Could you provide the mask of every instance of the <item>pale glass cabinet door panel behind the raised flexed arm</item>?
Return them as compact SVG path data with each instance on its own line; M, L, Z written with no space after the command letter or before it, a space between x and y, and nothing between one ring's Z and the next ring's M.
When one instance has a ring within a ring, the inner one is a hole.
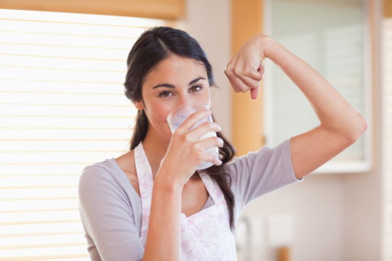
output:
M266 2L268 34L319 71L370 122L365 1ZM270 60L267 67L266 145L273 146L320 122L306 96L285 72ZM370 128L369 123L366 134L313 173L368 171Z

